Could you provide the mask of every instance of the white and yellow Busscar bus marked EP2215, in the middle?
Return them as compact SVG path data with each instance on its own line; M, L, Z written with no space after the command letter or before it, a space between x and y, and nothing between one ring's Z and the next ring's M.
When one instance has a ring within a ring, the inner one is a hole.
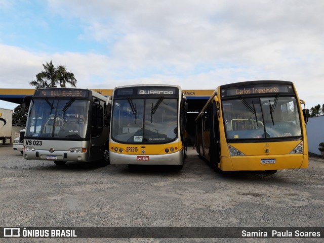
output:
M128 85L112 95L111 164L175 165L187 151L186 97L176 85Z

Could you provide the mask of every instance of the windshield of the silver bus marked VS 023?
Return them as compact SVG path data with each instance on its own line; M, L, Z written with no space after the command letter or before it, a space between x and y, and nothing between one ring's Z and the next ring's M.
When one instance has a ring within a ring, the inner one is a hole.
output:
M35 99L26 124L27 137L86 138L90 101Z

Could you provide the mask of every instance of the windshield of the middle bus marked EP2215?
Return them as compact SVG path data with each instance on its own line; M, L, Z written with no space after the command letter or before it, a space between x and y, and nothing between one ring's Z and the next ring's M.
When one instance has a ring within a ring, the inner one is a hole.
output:
M126 143L165 143L177 138L177 99L115 100L111 137Z

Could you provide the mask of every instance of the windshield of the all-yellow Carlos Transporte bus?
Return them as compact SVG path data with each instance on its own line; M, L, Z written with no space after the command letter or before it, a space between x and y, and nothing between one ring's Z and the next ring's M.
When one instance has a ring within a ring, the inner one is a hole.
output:
M296 97L268 96L222 102L227 139L301 136Z

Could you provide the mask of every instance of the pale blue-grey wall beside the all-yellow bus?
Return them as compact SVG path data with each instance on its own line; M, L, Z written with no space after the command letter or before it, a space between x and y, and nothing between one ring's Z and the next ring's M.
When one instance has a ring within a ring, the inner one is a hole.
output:
M306 125L308 151L321 155L318 143L324 142L324 116L310 117Z

